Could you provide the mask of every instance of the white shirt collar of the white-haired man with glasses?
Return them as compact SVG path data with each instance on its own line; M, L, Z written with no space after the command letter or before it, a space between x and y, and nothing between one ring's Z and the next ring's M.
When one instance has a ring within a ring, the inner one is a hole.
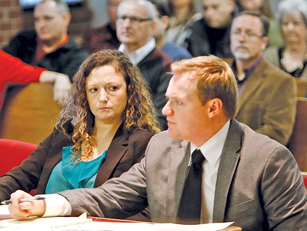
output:
M156 47L155 38L151 37L147 44L135 51L131 51L127 54L134 65L137 65L142 61L153 49ZM119 51L125 52L125 45L121 44L118 48Z

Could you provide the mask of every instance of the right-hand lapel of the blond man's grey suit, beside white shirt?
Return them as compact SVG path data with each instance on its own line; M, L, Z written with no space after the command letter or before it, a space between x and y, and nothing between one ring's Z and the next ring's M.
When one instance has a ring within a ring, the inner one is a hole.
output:
M223 222L229 187L239 160L241 148L242 127L232 119L218 167L214 206L213 222Z

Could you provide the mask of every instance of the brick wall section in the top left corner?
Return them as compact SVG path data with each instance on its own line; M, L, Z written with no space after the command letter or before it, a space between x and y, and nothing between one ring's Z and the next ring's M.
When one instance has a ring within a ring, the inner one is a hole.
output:
M0 0L0 48L22 27L19 1Z

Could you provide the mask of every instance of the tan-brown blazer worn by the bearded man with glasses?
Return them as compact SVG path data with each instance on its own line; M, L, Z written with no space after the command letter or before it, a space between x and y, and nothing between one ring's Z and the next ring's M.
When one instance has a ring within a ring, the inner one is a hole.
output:
M239 96L235 118L286 145L292 134L295 114L294 78L262 59Z

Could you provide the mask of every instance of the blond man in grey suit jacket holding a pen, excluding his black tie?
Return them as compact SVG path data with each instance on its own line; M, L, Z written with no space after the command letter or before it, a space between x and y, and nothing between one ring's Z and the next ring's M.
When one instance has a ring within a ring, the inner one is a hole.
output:
M304 230L307 196L298 166L282 144L233 117L235 77L215 56L174 62L163 113L168 130L150 140L145 157L98 188L46 195L21 202L11 195L14 218L77 216L126 218L149 206L153 222L177 222L191 154L202 164L199 222L234 221L243 230ZM56 202L56 203L55 203Z

